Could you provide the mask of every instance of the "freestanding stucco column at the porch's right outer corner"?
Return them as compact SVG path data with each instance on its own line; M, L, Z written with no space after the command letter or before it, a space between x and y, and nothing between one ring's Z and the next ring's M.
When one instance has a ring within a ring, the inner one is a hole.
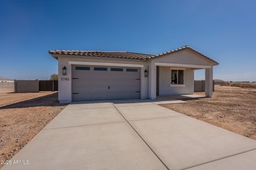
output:
M213 66L205 69L205 96L212 97L213 91Z

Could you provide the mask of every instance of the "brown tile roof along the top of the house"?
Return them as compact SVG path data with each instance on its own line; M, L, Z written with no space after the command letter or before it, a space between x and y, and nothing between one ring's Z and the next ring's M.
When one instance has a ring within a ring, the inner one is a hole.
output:
M198 52L197 50L191 48L188 45L181 46L180 48L176 48L174 50L170 50L160 54L143 54L143 53L133 53L133 52L126 52L126 51L84 51L84 50L52 50L49 51L49 54L63 54L63 55L75 55L75 56L90 56L90 57L109 57L109 58L126 58L126 59L153 59L157 57L164 56L165 54L175 53L183 49L191 49L194 52L210 59L210 61L216 63L213 59L205 56L205 54Z

